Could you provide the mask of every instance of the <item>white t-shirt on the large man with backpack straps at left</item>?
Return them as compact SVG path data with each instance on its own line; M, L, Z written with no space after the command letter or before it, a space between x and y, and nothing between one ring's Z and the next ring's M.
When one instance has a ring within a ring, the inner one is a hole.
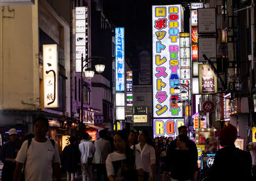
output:
M29 145L28 140L22 144L15 161L23 163L26 161L26 181L51 181L52 162L60 162L58 147L52 145L50 139L44 143L32 139Z

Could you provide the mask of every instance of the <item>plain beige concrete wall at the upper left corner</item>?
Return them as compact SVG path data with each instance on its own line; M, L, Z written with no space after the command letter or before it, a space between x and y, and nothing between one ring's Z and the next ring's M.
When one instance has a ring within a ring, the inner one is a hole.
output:
M38 109L38 6L1 6L0 109Z

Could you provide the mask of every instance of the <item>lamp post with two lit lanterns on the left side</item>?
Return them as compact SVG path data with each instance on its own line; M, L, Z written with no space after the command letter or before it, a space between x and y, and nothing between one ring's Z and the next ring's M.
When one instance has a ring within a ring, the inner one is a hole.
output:
M91 59L89 61L89 59ZM86 67L89 63L91 63L93 61L93 59L103 59L100 56L92 56L90 58L83 58L83 54L81 56L81 114L80 114L80 122L83 123L83 113L84 113L84 86L83 86L83 70L84 67ZM85 64L84 64L85 61ZM99 63L97 65L95 65L95 70L99 73L104 72L105 69L105 65L102 63ZM84 70L84 75L87 79L92 79L93 75L94 75L94 70L92 68L86 68L86 70Z

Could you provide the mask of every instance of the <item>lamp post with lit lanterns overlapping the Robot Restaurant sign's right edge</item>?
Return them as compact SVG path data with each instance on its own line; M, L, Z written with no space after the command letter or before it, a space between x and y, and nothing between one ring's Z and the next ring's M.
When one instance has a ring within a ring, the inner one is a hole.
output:
M179 94L180 93L180 97L181 98L186 98L188 96L188 118L189 118L189 120L191 120L190 101L189 101L189 95L190 95L190 89L191 88L189 87L189 84L174 84L174 85L177 86L177 87L174 88L174 93L175 94ZM182 88L184 88L186 91L181 91L180 92L180 88L178 86L182 86ZM179 101L178 102L178 106L179 107L182 106L182 103L183 102ZM185 111L185 109L184 109L184 111ZM186 114L184 114L184 115L186 115Z

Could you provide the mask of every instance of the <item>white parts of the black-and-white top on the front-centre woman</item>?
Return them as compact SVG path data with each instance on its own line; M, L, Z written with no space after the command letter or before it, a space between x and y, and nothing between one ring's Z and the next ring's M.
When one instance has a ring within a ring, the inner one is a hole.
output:
M115 169L112 164L112 162L121 161L124 159L126 159L125 153L113 152L108 155L108 157L106 159L106 169L107 169L108 177L110 175L113 175L113 176L115 176L115 180L122 180L124 178L124 177L122 177L121 169L118 170L115 175ZM135 152L135 166L136 166L136 169L143 168L142 163L141 163L140 153L137 151Z

